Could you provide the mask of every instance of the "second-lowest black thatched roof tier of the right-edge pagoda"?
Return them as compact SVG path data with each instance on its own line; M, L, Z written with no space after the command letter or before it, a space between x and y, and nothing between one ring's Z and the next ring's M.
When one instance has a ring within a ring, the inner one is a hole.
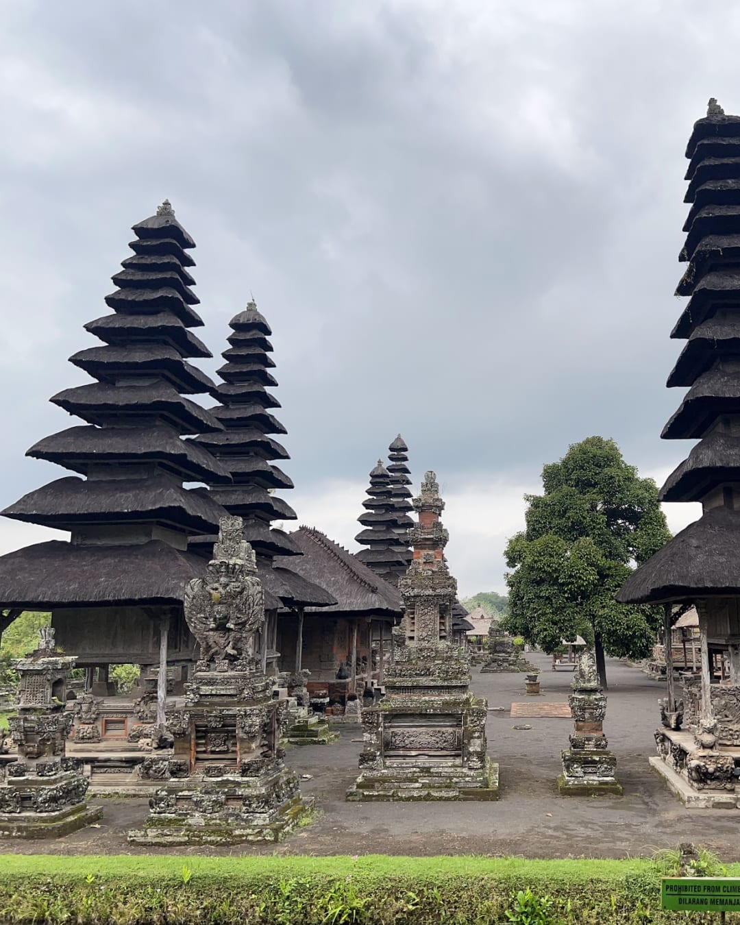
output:
M740 438L714 431L697 443L660 489L661 501L700 501L740 474Z

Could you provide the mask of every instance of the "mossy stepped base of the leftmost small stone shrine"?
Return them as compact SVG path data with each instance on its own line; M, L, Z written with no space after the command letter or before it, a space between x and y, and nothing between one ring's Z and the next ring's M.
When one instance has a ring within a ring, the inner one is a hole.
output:
M56 838L103 816L102 807L85 802L88 782L77 771L18 776L18 770L8 765L0 784L0 837Z

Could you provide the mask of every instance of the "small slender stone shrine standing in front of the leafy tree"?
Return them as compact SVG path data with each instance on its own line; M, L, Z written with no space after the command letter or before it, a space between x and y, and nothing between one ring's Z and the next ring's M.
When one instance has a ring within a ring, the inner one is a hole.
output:
M568 702L575 729L569 736L571 747L561 753L562 773L558 778L561 796L621 796L622 784L614 776L617 758L609 751L603 730L607 698L598 683L593 652L578 656L573 694Z

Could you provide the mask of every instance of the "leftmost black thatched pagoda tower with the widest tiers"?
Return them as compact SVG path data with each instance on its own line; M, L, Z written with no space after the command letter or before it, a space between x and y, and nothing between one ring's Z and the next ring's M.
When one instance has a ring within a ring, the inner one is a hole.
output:
M187 395L215 386L187 358L210 356L191 328L195 246L168 202L133 227L133 252L105 296L112 314L85 328L103 346L70 362L95 380L52 398L84 422L28 450L76 475L31 491L2 513L66 530L0 557L0 607L52 611L56 640L79 667L191 660L184 586L203 570L189 536L217 529L225 512L202 488L228 483L210 453L183 435L221 431ZM165 672L160 672L160 679ZM124 733L125 735L125 733Z

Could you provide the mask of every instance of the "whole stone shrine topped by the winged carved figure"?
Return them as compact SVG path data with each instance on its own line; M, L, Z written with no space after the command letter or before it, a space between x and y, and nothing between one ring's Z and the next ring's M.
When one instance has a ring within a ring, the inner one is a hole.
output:
M240 517L221 519L213 559L185 590L185 619L201 657L187 705L167 714L175 738L166 785L150 799L138 845L278 841L307 808L278 746L285 700L272 697L258 635L263 587Z

